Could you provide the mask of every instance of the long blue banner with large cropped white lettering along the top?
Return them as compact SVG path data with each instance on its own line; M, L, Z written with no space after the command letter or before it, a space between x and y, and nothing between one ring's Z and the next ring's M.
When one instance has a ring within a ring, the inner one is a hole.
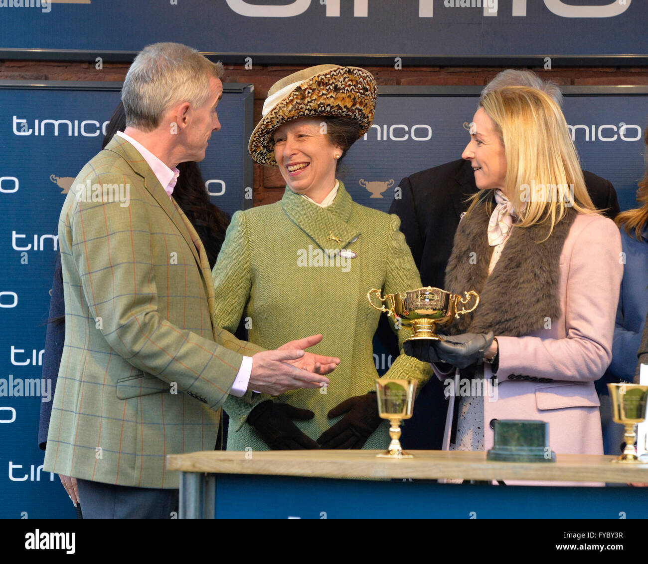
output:
M101 55L175 41L238 53L241 63L257 53L646 55L648 20L641 0L65 0L1 7L14 2L23 0L0 1L0 49Z

